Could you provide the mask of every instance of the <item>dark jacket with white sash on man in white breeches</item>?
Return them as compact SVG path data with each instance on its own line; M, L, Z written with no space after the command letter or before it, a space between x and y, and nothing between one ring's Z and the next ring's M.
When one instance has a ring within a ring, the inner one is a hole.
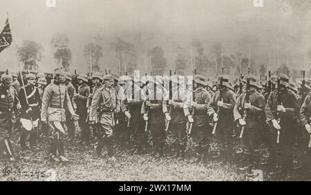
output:
M28 119L32 118L32 120L39 119L40 117L40 105L41 105L41 98L39 94L39 90L32 85L26 85L26 95L28 99L28 103L26 101L24 89L21 88L19 91L19 101L21 102L21 118ZM31 112L28 114L26 110L31 107Z

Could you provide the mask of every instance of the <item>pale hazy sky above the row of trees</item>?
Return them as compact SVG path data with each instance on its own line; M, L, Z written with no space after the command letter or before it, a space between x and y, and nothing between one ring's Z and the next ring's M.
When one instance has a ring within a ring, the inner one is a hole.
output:
M205 52L212 43L223 43L227 54L248 55L251 43L256 61L267 61L270 53L272 63L279 41L281 59L289 55L291 64L297 65L305 54L309 63L308 2L302 6L293 3L296 0L263 2L263 8L255 8L253 0L56 0L56 8L47 8L46 0L0 0L0 28L8 12L15 44L41 43L46 50L40 67L44 71L53 67L50 38L56 32L68 34L80 71L87 68L82 51L93 32L104 38L99 43L104 53L101 63L114 71L117 59L109 43L116 37L133 43L139 65L144 52L154 46L170 52L178 44L187 48L192 39L200 39ZM1 69L7 65L17 69L15 44L0 53Z

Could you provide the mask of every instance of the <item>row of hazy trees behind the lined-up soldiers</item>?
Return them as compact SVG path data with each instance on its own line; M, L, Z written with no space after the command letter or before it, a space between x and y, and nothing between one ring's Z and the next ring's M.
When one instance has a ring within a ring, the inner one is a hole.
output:
M102 47L99 45L101 40L100 35L93 35L93 41L84 45L84 57L92 65L92 72L101 71L100 59L103 57ZM50 41L54 60L56 63L62 64L66 71L73 63L69 42L67 35L60 33L54 34ZM119 73L128 72L131 74L133 70L138 68L138 57L132 43L117 38L110 43L110 46L115 51ZM191 50L182 48L180 45L176 46L172 52L174 53L173 57L171 54L166 57L162 48L154 47L144 54L144 66L145 70L161 75L165 71L168 72L167 68L176 70L177 74L187 74L192 70L191 65L194 65L197 72L213 79L217 74L221 74L221 65L223 64L224 74L230 75L231 79L236 79L240 73L245 74L247 72L250 63L250 72L261 78L261 81L265 79L267 65L258 65L254 59L243 57L241 53L227 55L222 50L222 45L215 43L211 45L209 52L205 52L202 42L198 39L191 41ZM21 47L18 48L18 55L24 65L24 70L38 70L38 62L44 58L44 48L35 41L23 41ZM89 71L91 71L90 69ZM288 66L283 63L280 71L288 74ZM299 78L299 70L293 70L290 75L293 79Z

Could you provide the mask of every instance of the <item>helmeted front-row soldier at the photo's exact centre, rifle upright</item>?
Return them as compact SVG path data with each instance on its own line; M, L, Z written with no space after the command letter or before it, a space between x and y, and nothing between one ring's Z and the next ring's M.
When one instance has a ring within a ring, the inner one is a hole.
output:
M165 125L164 125L164 107L167 103L163 102L162 93L162 79L158 77L153 80L151 76L148 79L148 85L145 86L147 99L142 104L141 114L143 114L144 121L147 121L147 131L150 132L150 139L154 148L154 154L163 155L165 145ZM163 105L164 104L164 105ZM165 114L169 121L171 118L169 114Z

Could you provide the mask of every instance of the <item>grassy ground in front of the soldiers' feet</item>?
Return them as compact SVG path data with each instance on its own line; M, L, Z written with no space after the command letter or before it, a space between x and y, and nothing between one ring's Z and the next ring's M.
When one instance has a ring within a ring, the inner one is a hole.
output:
M13 137L15 151L19 151L17 137ZM238 154L229 161L224 158L209 160L205 163L196 163L192 154L185 161L166 154L162 158L147 154L131 154L128 150L117 147L117 161L107 161L106 154L102 157L95 155L93 147L66 143L66 156L68 163L53 163L48 158L48 138L41 140L39 152L26 153L25 158L9 163L0 161L0 181L44 181L53 178L50 174L54 170L59 181L254 181L256 177L246 172L238 172ZM213 146L215 147L215 146ZM12 172L15 171L15 174ZM17 174L20 171L21 174ZM38 172L38 173L35 173ZM43 173L42 173L43 172ZM265 181L275 180L264 173ZM47 177L49 176L49 177ZM289 180L306 180L294 175Z

